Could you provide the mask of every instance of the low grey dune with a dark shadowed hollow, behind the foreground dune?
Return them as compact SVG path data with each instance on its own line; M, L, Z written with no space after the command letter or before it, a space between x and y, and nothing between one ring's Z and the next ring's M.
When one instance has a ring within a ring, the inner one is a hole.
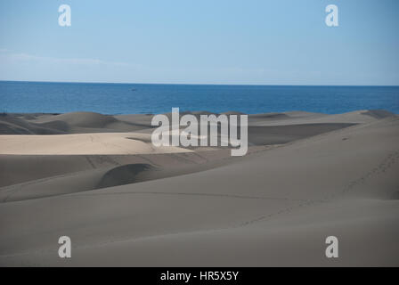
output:
M182 155L185 153L151 155L150 158L146 158L144 155L140 158L131 156L127 160L132 160L134 163L130 164L126 164L126 159L112 158L112 156L102 158L87 156L86 159L91 167L87 166L87 163L83 163L86 166L85 170L68 172L65 169L66 172L61 175L52 175L49 171L42 170L40 175L43 178L36 177L35 179L23 177L23 175L14 178L12 184L7 183L0 188L0 203L92 191L208 170L226 164L224 159L230 154L226 151L218 152L218 155L209 157L209 159L202 156L183 157ZM99 159L105 159L105 163L101 167L95 167L95 161ZM125 164L119 165L118 161L120 160L125 160ZM139 163L142 161L147 163ZM110 163L116 163L118 166L110 167ZM173 166L171 167L170 164Z

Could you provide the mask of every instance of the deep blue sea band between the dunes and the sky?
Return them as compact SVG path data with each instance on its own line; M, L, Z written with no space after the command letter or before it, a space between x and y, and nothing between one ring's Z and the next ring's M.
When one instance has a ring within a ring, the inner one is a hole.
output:
M399 113L399 86L157 85L0 81L0 112L102 114L183 110Z

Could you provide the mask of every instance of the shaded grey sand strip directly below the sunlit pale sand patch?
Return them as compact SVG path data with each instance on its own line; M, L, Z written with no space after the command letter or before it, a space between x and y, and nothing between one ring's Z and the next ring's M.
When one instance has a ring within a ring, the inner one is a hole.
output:
M252 149L257 151L259 148ZM110 169L128 164L149 164L157 169L157 176L161 172L159 169L162 169L162 173L170 171L178 175L191 167L214 167L217 161L225 159L230 160L230 150L140 155L0 155L0 187L31 181L37 183L43 178L49 180L60 175L81 175L86 170ZM24 184L23 187L31 184ZM20 189L22 186L14 187Z

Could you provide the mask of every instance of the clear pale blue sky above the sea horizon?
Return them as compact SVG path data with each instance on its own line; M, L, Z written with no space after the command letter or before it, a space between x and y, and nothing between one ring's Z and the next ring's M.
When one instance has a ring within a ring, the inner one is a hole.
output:
M397 0L0 0L0 80L399 85L398 30Z

